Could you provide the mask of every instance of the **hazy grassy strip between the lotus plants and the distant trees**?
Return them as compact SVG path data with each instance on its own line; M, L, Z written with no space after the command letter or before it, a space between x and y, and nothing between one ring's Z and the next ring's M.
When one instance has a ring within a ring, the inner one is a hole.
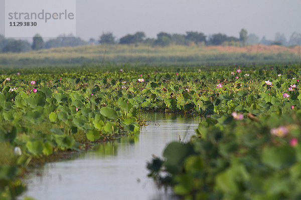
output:
M20 53L0 53L0 66L48 67L53 65L116 65L131 63L148 66L251 65L300 62L300 46L250 45L206 46L146 44L98 44L59 47Z

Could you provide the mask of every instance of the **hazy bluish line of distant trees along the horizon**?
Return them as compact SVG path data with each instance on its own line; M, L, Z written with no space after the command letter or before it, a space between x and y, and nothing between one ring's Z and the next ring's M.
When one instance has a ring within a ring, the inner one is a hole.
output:
M43 37L36 34L33 37L33 42L26 40L7 39L0 35L0 52L24 52L30 50L39 50L43 48L54 48L61 46L78 46L87 44L146 44L168 46L171 44L177 45L233 45L244 46L249 44L264 44L264 45L301 45L301 34L292 33L287 40L284 34L277 32L274 40L268 40L263 36L261 39L254 34L248 34L247 30L242 28L239 31L239 37L228 36L223 33L214 33L205 35L203 32L187 31L186 34L159 32L156 38L146 37L142 31L137 31L134 34L126 34L117 39L112 32L102 33L99 39L90 38L88 41L70 35L60 35L56 38L44 41Z

